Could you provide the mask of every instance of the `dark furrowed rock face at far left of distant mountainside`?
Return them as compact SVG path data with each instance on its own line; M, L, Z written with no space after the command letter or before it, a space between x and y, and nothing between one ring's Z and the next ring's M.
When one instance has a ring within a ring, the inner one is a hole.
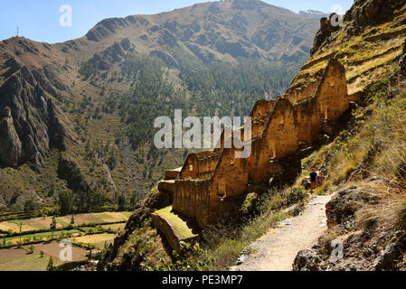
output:
M29 68L11 59L13 74L0 87L0 166L42 165L51 147L73 141L70 129L52 97L66 86L52 66ZM7 72L8 72L7 71Z

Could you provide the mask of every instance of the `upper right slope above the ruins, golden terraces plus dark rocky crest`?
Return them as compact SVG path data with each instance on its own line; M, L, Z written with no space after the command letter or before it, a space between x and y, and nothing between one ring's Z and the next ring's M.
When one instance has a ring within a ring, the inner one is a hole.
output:
M332 58L345 66L349 94L384 78L402 55L404 9L403 1L355 1L345 14L344 27L325 23L316 34L311 57L289 90L307 88Z

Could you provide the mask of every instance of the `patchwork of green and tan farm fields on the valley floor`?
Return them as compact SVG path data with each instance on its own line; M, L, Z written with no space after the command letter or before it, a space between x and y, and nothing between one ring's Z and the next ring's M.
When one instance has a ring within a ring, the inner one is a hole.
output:
M72 261L84 261L87 249L102 249L111 244L116 238L114 232L125 228L130 215L131 212L109 211L78 214L74 215L73 228L68 228L71 215L57 217L57 229L53 234L50 230L52 217L3 221L0 223L3 231L0 234L0 271L45 271L50 257L54 266L62 265L60 240L63 238L72 242Z

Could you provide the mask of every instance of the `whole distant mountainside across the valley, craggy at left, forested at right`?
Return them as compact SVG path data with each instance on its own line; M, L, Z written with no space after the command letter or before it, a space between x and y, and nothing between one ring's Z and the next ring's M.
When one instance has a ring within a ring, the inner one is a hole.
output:
M133 208L187 154L151 145L155 117L248 115L288 87L317 27L233 0L0 42L0 210Z

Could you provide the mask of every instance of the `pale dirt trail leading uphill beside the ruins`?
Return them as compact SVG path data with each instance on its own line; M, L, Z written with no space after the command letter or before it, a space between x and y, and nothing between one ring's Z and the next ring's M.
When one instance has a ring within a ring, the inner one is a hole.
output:
M277 228L250 244L231 271L291 271L297 252L312 247L326 230L326 203L332 195L316 196L297 217L286 219Z

